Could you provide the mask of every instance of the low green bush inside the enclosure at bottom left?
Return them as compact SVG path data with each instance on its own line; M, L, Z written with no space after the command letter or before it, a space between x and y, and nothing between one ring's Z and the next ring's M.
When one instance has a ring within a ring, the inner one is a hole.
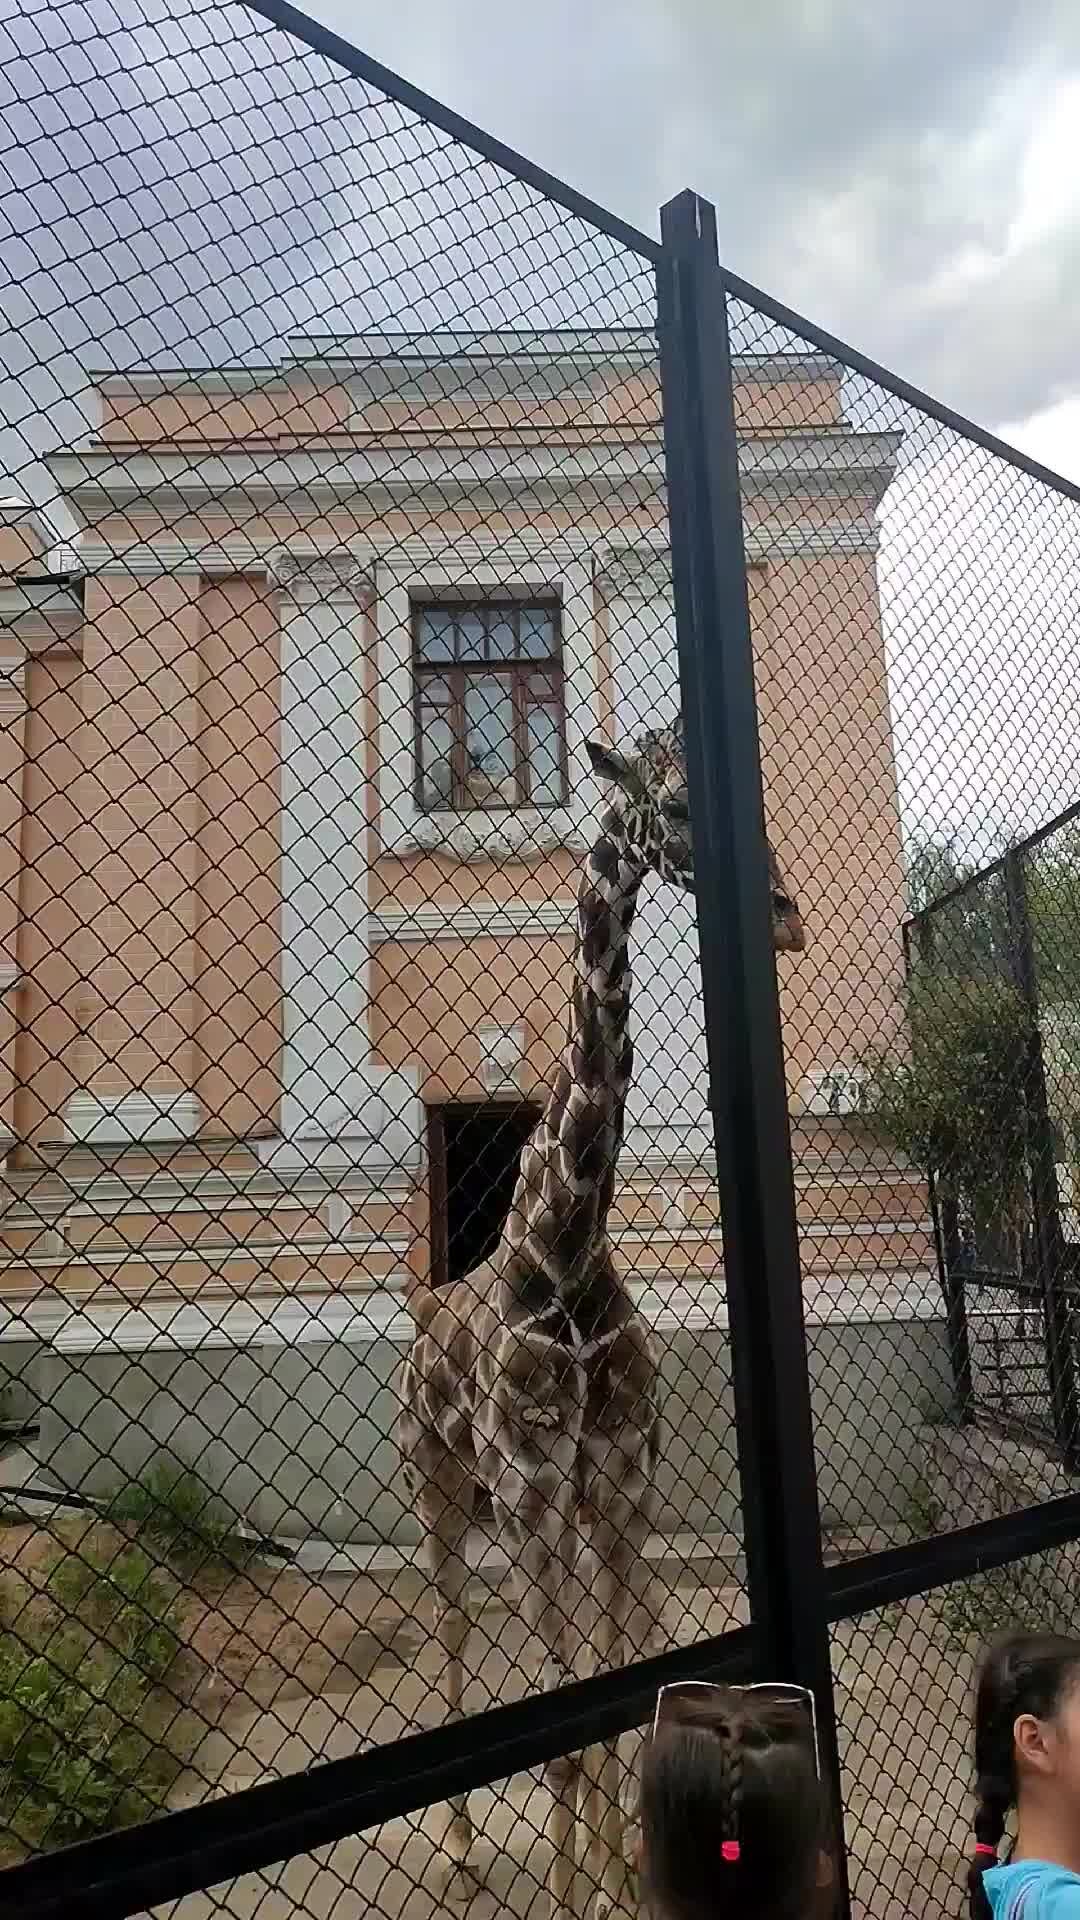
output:
M183 1764L161 1682L181 1596L136 1546L58 1548L40 1594L0 1624L0 1826L15 1851L158 1812Z

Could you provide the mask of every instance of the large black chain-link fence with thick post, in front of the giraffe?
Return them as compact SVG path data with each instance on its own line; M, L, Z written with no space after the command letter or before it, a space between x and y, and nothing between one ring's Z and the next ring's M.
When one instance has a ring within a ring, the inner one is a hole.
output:
M1080 1536L1074 490L277 0L0 86L12 1908L632 1910L755 1674L953 1912Z

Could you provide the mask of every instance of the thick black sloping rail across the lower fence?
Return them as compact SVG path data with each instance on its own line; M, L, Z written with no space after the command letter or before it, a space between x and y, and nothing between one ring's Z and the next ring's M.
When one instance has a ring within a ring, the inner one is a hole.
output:
M884 1548L826 1569L828 1620L836 1626L1070 1540L1080 1540L1080 1494ZM657 1688L671 1680L742 1680L755 1668L753 1628L732 1628L555 1693L490 1707L10 1866L0 1874L0 1910L19 1920L127 1920L642 1726Z

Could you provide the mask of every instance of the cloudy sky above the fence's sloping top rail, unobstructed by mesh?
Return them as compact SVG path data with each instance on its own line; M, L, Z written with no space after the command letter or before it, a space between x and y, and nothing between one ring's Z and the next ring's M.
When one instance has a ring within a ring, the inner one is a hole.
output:
M1080 478L1074 0L315 0L329 27L650 232Z

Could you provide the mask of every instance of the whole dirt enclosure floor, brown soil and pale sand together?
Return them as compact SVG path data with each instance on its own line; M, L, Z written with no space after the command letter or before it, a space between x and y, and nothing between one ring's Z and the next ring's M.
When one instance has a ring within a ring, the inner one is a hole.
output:
M63 1528L67 1544L115 1538ZM4 1563L33 1590L56 1534L6 1526ZM479 1596L480 1597L480 1596ZM536 1684L538 1649L482 1588L465 1709ZM423 1578L309 1576L252 1563L206 1572L183 1597L184 1651L169 1686L192 1709L194 1738L169 1793L190 1805L398 1740L440 1718L440 1668ZM746 1617L744 1596L698 1574L675 1582L659 1632L692 1644ZM967 1853L970 1653L944 1634L932 1601L851 1622L834 1636L851 1891L867 1920L959 1914ZM632 1764L634 1741L626 1743ZM469 1920L546 1920L546 1791L517 1776L473 1797L477 1874ZM446 1809L346 1839L319 1855L192 1895L154 1920L434 1920L463 1912L438 1891ZM586 1887L578 1889L584 1914Z

